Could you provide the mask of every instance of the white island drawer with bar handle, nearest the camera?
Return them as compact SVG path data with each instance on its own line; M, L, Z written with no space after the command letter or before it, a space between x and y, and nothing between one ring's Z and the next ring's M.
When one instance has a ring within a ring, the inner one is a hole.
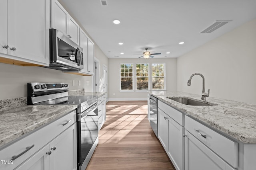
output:
M234 168L238 166L238 143L185 115L185 129Z

